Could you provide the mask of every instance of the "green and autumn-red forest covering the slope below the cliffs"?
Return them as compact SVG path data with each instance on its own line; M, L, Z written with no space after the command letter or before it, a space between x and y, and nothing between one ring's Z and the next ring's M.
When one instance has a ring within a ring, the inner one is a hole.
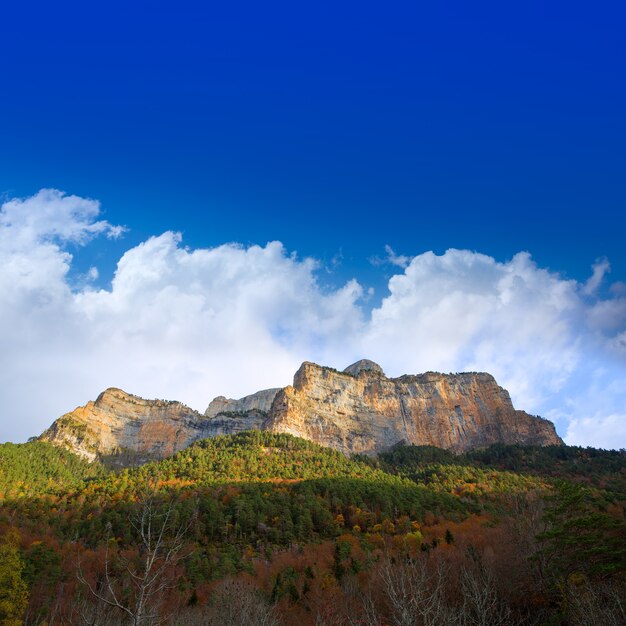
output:
M624 451L4 444L0 624L623 625L625 505Z

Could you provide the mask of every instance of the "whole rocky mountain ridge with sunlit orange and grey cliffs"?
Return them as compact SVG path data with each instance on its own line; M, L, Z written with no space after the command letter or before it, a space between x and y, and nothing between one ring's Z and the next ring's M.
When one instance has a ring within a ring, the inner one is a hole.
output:
M398 443L462 452L492 443L561 444L548 420L517 411L485 373L387 378L362 360L343 372L305 362L293 385L239 400L218 396L204 415L180 402L144 400L107 389L63 415L41 439L90 460L142 463L206 437L261 429L291 433L348 453Z

